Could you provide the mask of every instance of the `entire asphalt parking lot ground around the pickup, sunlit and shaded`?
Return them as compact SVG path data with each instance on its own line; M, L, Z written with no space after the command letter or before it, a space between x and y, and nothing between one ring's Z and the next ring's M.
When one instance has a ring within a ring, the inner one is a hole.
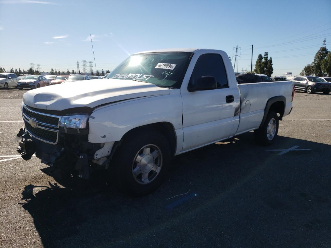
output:
M179 155L133 198L15 157L24 92L0 90L1 247L330 247L331 94L296 92L272 146L249 132Z

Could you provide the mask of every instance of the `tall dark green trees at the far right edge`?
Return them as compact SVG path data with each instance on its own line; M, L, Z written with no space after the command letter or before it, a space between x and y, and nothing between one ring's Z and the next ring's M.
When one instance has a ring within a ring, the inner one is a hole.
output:
M314 61L302 69L300 76L331 76L331 51L328 51L325 45L326 39L323 41L323 46L315 54Z

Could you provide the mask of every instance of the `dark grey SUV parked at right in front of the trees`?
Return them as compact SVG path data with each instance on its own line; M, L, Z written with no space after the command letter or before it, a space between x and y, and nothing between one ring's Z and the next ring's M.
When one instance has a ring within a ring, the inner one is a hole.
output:
M329 94L331 91L331 83L324 82L323 79L313 76L295 77L291 80L295 90L302 90L308 94L315 92L323 92Z

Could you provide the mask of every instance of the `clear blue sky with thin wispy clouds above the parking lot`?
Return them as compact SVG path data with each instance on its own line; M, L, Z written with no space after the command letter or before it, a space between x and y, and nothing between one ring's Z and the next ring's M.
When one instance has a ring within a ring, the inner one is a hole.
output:
M76 71L78 60L82 71L82 60L94 61L90 34L99 71L139 51L212 48L232 57L236 45L238 70L250 70L254 44L253 68L258 54L268 52L273 75L296 75L324 38L331 50L329 0L0 0L0 9L0 66L7 70L32 62L42 71Z

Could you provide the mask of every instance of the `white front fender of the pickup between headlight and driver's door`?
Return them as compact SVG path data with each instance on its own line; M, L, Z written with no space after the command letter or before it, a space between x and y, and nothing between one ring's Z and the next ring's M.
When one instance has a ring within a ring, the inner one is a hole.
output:
M88 141L106 143L119 141L133 128L169 122L174 129L182 128L182 99L179 89L169 95L144 97L112 103L95 109L89 119Z

